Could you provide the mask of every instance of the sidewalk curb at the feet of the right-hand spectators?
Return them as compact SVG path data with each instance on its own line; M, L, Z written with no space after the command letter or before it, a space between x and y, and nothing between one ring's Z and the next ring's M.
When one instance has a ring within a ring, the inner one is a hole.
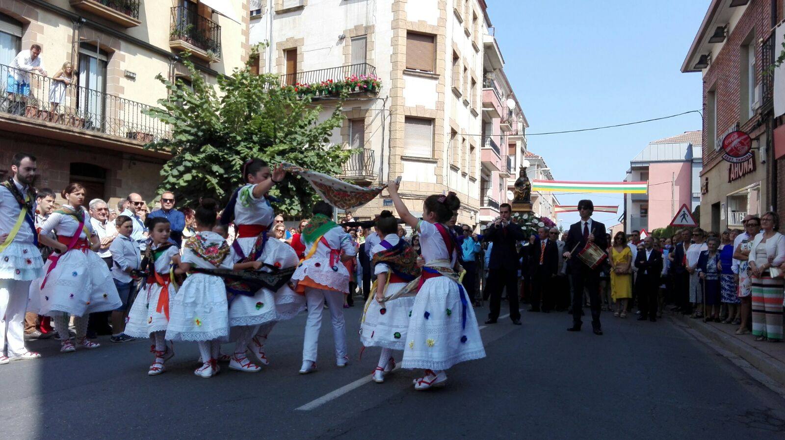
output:
M743 358L750 365L760 370L766 376L776 380L785 386L785 362L769 355L758 348L739 340L738 337L728 335L720 330L714 329L711 325L706 325L698 319L688 318L683 315L671 315L674 322L681 322L689 328L696 330L702 336L720 345L723 349L734 355ZM750 335L745 335L750 336Z

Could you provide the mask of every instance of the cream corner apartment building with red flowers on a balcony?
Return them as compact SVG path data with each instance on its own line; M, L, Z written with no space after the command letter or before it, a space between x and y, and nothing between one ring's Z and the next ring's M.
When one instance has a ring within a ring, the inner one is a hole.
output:
M354 151L342 177L372 185L402 176L401 195L415 214L427 195L455 191L465 224L479 223L482 196L498 201L507 187L498 180L505 144L486 146L483 136L491 134L485 53L498 53L489 26L484 0L250 3L250 42L266 43L258 71L279 74L282 85L379 78L381 89L350 93L344 126L330 138ZM327 95L314 104L327 115L335 102ZM485 180L495 182L492 191L481 186ZM354 216L371 218L381 209L392 209L392 201L379 198Z

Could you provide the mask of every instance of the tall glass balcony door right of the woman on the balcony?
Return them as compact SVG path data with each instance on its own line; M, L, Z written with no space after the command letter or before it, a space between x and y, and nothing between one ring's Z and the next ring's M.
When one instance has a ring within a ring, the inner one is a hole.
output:
M79 128L104 131L106 100L106 64L108 53L94 45L79 48Z

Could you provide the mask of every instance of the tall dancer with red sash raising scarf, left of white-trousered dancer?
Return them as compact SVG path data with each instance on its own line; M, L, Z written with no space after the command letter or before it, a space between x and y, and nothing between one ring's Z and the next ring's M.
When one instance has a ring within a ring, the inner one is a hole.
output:
M269 227L275 213L268 201L268 191L279 184L286 172L279 166L270 169L260 159L243 165L246 184L235 191L221 217L222 224L234 220L237 238L232 243L231 261L234 269L265 271L275 274L295 267L299 259L286 242L272 238ZM227 215L228 214L228 215ZM289 272L290 273L290 272ZM283 275L282 275L283 276ZM229 325L236 339L235 352L229 368L256 372L260 368L246 358L246 348L263 365L268 365L265 342L278 321L294 318L305 309L305 298L297 295L284 282L276 291L262 287L256 292L228 287Z

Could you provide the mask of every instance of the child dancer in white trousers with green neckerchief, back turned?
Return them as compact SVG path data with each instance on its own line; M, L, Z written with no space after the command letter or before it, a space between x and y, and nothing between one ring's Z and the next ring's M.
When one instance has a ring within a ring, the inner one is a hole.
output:
M349 271L341 262L354 258L356 250L349 234L330 220L332 206L316 202L312 210L314 216L301 234L305 249L309 250L292 275L295 291L304 294L308 304L300 374L316 371L316 349L325 301L332 318L336 365L343 367L349 363L343 314L343 294L349 292ZM341 250L344 253L341 254Z

